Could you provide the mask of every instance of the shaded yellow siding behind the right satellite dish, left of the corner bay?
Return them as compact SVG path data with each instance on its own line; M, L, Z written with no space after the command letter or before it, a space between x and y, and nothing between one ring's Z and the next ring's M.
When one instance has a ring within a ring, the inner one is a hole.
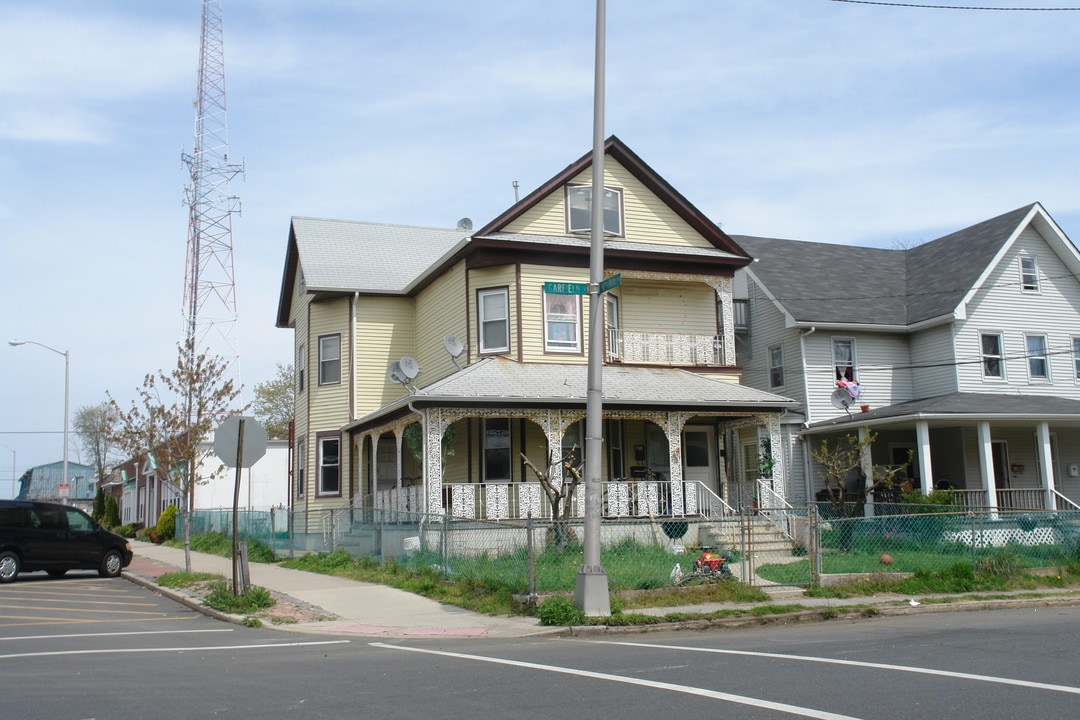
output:
M443 345L447 335L455 335L464 343L469 339L465 326L465 267L459 262L416 299L416 359L423 373L417 379L420 386L454 372L454 361ZM459 359L463 364L464 357Z

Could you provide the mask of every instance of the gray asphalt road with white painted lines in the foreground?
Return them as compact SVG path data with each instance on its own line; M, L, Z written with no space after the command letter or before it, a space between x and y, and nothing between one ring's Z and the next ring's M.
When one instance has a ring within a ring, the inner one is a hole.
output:
M96 578L0 586L0 717L1074 718L1080 609L529 640L308 636Z

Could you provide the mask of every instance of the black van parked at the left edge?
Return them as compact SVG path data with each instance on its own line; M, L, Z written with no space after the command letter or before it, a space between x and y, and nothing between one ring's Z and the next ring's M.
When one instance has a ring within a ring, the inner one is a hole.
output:
M117 578L132 561L132 544L78 507L26 500L0 500L0 583L21 572L97 570Z

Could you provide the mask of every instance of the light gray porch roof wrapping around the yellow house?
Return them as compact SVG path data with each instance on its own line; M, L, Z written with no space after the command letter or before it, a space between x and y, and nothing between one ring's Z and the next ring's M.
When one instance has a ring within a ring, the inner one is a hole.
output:
M585 407L584 364L522 364L486 357L345 426L363 430L414 407ZM679 368L604 366L603 403L618 409L780 411L797 405L780 395Z

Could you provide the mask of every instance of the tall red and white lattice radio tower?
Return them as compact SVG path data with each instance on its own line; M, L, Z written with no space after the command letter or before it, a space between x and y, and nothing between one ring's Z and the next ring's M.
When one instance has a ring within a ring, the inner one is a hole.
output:
M243 174L244 165L229 164L220 0L203 0L194 146L190 154L181 153L181 159L191 174L185 188L189 210L185 339L195 354L207 352L228 362L239 388L232 215L240 213L240 199L231 193L230 182Z

